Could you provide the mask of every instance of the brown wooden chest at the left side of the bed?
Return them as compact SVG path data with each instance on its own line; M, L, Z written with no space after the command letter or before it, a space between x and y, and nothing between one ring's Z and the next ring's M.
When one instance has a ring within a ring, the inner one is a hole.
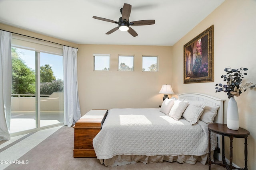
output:
M92 139L99 133L107 109L92 109L74 125L74 158L96 157Z

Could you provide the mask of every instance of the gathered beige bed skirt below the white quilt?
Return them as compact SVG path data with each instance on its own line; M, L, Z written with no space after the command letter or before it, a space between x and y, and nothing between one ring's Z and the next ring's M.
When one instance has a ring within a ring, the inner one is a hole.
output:
M214 151L211 152L211 158L213 158ZM143 162L144 164L155 163L155 162L179 162L179 163L188 163L195 164L196 161L199 161L201 164L205 165L208 161L208 154L202 156L193 156L193 155L179 155L179 156L143 156L143 155L117 155L110 159L100 159L100 163L105 166L121 166L126 164L135 164L136 162ZM213 160L212 160L213 161Z

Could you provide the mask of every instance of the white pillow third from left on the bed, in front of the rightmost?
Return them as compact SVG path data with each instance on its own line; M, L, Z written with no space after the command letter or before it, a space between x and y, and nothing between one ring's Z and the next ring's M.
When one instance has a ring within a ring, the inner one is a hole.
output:
M189 100L188 107L182 114L182 117L189 121L191 125L195 124L202 115L205 105L206 102Z

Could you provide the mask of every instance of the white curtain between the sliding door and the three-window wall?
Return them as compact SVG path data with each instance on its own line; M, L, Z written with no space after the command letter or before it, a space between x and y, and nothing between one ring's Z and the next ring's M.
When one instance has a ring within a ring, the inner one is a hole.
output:
M77 85L77 51L63 46L64 125L71 127L81 117Z

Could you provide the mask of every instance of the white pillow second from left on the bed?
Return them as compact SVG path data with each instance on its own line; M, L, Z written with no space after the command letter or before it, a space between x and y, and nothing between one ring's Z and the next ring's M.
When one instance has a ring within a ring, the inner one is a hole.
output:
M188 102L182 102L181 100L175 100L174 105L172 106L169 116L175 120L179 120L182 113L188 106Z

